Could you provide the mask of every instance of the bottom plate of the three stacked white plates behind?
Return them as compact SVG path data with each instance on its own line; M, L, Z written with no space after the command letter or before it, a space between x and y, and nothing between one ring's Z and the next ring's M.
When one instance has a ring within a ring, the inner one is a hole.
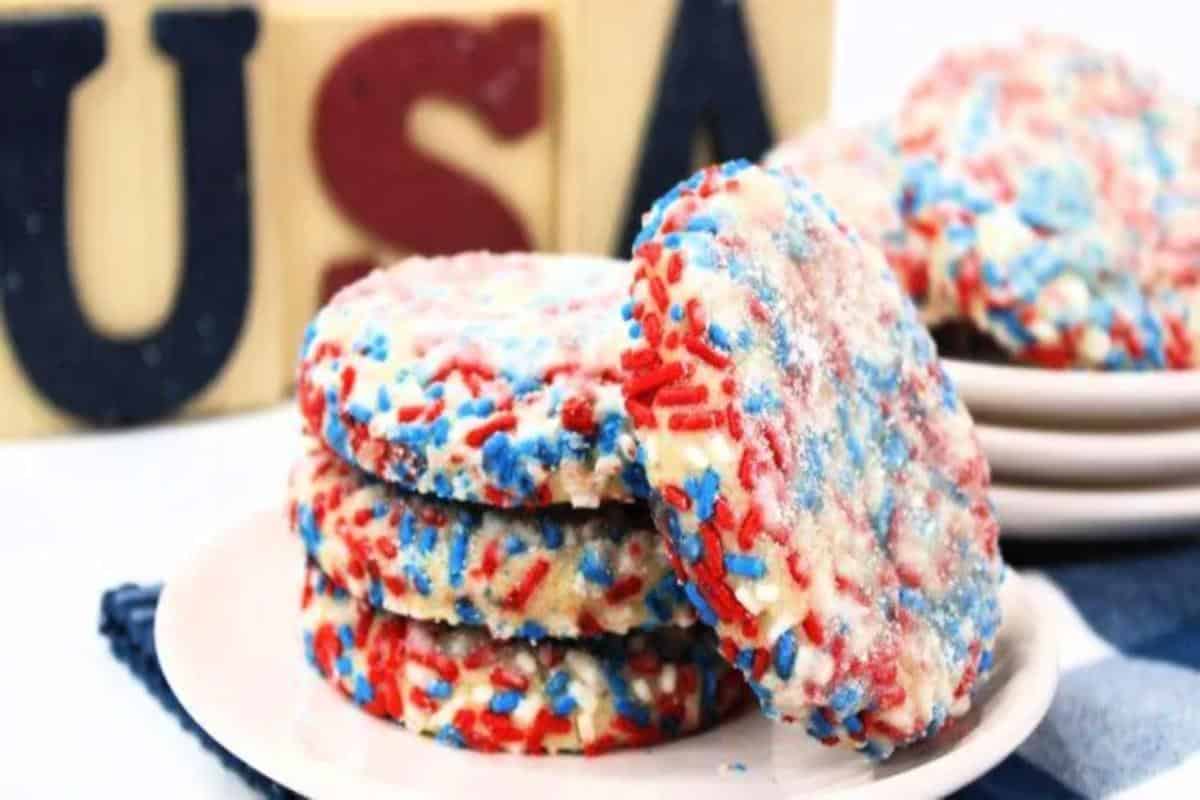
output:
M1200 533L1200 486L1058 489L992 485L1003 536L1141 539Z

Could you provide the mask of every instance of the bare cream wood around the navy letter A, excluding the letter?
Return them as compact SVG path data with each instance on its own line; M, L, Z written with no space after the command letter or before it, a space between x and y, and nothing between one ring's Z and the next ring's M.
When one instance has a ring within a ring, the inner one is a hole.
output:
M652 113L678 0L562 0L558 247L611 253ZM776 136L826 114L833 0L743 0ZM700 167L710 158L696 148ZM708 154L708 155L706 155Z

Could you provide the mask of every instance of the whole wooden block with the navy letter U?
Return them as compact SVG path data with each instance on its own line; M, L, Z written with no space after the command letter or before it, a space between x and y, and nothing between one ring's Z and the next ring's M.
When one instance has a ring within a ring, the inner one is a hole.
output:
M0 5L0 438L282 398L260 34L248 5Z

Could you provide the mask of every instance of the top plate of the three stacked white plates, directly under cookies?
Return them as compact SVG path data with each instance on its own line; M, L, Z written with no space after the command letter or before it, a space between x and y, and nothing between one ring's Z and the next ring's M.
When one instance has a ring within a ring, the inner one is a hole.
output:
M1200 425L1200 369L1080 372L944 359L967 408L980 420L1060 427L1140 429Z

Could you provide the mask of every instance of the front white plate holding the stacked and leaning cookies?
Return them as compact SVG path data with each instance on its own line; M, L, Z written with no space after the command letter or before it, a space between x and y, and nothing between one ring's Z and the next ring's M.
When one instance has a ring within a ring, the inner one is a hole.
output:
M942 795L984 774L1033 730L1057 681L1054 633L1010 575L992 680L953 735L882 765L830 751L750 711L716 730L602 758L456 751L367 716L308 668L299 637L301 552L275 515L216 540L168 582L158 657L172 688L220 742L317 798ZM744 772L722 770L742 762Z

